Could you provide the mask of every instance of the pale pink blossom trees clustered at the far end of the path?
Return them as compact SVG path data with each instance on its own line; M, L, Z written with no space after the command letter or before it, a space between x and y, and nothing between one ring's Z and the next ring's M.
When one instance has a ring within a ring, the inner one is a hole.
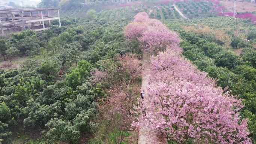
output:
M146 12L135 15L134 21L125 27L124 34L129 40L137 39L143 51L161 51L180 43L177 33L170 31L160 21L149 19Z

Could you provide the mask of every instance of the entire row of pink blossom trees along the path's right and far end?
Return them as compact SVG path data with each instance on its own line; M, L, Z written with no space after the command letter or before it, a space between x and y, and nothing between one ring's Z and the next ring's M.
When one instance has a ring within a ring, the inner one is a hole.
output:
M247 119L240 119L238 113L243 108L241 99L217 87L207 73L182 56L176 33L143 12L134 16L124 34L155 54L152 84L142 104L135 106L135 113L146 109L146 114L134 126L146 125L176 143L251 144ZM149 137L156 142L156 135Z

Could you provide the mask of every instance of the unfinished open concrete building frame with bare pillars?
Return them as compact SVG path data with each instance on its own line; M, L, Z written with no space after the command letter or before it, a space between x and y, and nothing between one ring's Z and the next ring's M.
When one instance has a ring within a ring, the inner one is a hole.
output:
M34 31L46 30L48 25L51 25L51 20L58 19L59 26L60 12L59 8L14 8L14 9L0 9L0 29L1 33L5 31L22 28L31 28ZM50 16L52 11L58 11L58 17Z

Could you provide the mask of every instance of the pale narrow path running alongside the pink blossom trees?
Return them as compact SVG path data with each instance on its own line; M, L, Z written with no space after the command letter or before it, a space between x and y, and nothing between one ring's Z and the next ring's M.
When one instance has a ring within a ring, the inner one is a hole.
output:
M144 97L146 102L147 98L147 86L149 86L149 80L151 79L150 75L150 54L144 52L143 53L143 75L142 75L142 83L141 83L141 90L144 90ZM147 113L147 111L146 111ZM152 138L149 138L149 135L152 135L153 131L149 129L147 126L141 126L138 132L138 144L153 144ZM167 144L167 142L158 142L158 144Z

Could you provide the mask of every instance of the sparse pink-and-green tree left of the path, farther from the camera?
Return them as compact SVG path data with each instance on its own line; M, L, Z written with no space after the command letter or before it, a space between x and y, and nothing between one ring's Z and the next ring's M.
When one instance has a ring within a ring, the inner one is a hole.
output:
M131 53L105 60L102 65L92 75L94 82L101 83L106 89L112 89L114 85L135 83L141 76L141 61Z

